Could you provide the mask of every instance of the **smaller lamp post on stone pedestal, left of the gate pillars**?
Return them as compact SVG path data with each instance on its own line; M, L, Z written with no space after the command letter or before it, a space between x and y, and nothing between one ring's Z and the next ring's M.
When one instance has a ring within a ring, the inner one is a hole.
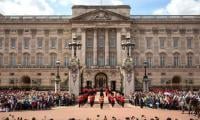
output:
M60 69L60 61L56 61L56 67L57 67L57 74L55 78L55 93L60 91L60 74L59 74L59 69Z

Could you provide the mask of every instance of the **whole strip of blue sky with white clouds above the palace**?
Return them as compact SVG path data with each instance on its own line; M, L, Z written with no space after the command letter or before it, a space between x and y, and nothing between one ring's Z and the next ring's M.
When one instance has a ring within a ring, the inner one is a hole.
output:
M0 0L0 13L71 15L73 5L130 5L132 15L200 15L200 0Z

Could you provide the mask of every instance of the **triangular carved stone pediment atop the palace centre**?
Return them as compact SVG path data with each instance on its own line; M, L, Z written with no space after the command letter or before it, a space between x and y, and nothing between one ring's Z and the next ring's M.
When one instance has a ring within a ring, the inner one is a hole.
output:
M71 18L71 21L127 21L129 17L108 10L94 10Z

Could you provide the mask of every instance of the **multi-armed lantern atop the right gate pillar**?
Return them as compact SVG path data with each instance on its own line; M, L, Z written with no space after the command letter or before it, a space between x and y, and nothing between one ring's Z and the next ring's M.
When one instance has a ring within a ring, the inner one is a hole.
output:
M130 57L130 49L133 49L135 47L135 44L131 43L130 37L126 37L125 43L122 42L121 46L123 50L127 50L127 57Z

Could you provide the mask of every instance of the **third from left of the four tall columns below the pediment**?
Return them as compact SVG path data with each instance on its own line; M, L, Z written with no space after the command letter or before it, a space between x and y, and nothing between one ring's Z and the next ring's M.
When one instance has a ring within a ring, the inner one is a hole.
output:
M108 40L108 29L105 31L105 65L109 65L109 40Z

